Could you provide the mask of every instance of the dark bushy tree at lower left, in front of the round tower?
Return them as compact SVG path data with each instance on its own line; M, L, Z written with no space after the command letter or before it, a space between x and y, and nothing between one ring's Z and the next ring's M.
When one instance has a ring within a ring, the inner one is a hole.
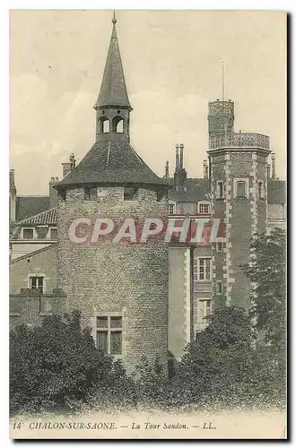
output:
M67 409L120 387L125 371L96 349L80 314L53 315L40 326L17 326L10 334L11 410Z

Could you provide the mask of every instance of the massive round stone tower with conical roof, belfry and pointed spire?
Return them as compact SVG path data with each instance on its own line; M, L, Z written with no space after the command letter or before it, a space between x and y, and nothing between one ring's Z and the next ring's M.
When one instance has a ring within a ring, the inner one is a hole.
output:
M115 18L112 22L94 106L96 142L57 185L58 288L66 293L68 311L82 311L97 347L122 358L132 371L141 357L151 361L159 357L167 366L169 248L161 237L157 244L149 239L141 242L138 237L116 241L115 229L126 220L132 227L136 222L136 232L146 218L165 220L168 183L152 172L130 144L132 108ZM114 232L107 237L97 235L93 242L98 217L109 220L110 226L113 223ZM84 235L78 243L69 237L69 228L77 219L82 227L76 228L75 235Z

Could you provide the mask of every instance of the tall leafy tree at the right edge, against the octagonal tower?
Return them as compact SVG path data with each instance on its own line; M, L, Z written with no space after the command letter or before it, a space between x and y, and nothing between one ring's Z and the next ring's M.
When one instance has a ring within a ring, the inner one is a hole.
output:
M251 262L242 268L251 281L250 315L266 342L282 350L286 340L286 233L275 228L255 237Z

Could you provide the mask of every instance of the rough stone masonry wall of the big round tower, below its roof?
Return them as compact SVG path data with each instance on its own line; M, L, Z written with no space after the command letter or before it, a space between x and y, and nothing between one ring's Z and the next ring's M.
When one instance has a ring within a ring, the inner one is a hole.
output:
M99 239L92 245L70 241L68 228L77 217L113 220L167 217L167 198L139 188L134 201L124 201L122 187L100 187L97 201L84 201L83 189L68 190L58 202L58 287L65 290L67 310L78 308L95 335L95 315L122 313L123 353L128 369L146 356L159 356L167 366L169 248L157 244L115 245Z

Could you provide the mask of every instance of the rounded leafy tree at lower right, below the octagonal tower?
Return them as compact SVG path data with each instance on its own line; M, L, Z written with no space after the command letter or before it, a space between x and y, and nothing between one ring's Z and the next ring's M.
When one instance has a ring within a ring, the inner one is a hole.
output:
M199 407L278 404L283 381L269 348L254 347L251 318L242 307L216 309L188 344L175 383L176 402Z

